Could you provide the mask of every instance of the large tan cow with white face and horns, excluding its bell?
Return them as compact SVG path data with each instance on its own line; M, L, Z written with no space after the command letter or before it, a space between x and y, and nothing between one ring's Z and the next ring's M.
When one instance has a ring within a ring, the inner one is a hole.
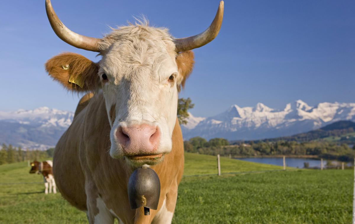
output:
M56 35L80 49L99 52L92 62L62 53L45 63L55 81L85 94L73 122L54 150L54 177L62 196L86 212L89 223L171 223L184 170L184 146L177 119L178 93L192 72L192 49L218 34L224 3L202 33L173 38L146 19L112 29L103 38L68 29L45 1ZM127 182L150 167L160 180L157 210L131 210Z

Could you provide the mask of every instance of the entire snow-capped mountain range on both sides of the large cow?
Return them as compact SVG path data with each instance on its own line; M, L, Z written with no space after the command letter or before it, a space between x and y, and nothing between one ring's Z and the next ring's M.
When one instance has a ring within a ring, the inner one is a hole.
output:
M29 150L54 147L73 117L73 112L48 107L0 111L0 143ZM181 125L181 129L185 140L195 136L256 140L303 133L343 120L355 121L355 103L324 102L312 107L297 100L288 103L283 110L257 103L255 107L233 105L206 118L190 113L187 124Z

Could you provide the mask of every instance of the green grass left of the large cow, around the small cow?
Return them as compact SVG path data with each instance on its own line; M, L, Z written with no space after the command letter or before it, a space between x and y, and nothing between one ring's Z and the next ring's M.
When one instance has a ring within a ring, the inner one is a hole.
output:
M86 214L70 206L60 193L45 195L42 175L29 170L27 162L0 166L0 223L87 222ZM11 184L23 182L30 183Z

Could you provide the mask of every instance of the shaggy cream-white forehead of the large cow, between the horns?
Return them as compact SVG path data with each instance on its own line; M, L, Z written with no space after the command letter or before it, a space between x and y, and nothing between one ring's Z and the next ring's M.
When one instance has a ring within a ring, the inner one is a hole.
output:
M153 35L151 35L153 33ZM103 38L101 70L112 75L126 75L137 69L155 77L176 72L176 52L167 30L129 26L114 30ZM165 74L166 73L166 74Z

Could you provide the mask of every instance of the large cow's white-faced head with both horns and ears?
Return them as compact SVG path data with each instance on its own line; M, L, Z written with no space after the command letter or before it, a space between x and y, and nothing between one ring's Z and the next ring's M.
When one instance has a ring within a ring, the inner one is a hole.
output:
M46 63L48 73L73 91L102 91L111 126L110 155L133 166L157 164L171 151L178 91L192 71L194 48L212 41L223 18L223 1L203 33L175 39L167 29L147 22L113 29L102 39L74 33L46 0L50 24L59 38L75 47L100 52L94 63L64 53Z

